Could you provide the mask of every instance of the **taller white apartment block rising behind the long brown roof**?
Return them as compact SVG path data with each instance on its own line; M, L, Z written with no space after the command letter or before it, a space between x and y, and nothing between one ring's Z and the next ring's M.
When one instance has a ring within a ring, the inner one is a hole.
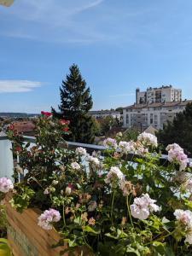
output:
M146 91L136 90L136 103L160 103L160 102L180 102L182 100L182 90L174 89L172 85L161 86L159 88L149 87Z

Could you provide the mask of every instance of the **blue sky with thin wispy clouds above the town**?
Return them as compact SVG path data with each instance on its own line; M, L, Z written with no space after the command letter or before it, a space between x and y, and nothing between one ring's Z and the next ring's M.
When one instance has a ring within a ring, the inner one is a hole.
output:
M191 0L15 0L0 6L0 112L57 109L79 66L93 109L172 84L192 99Z

